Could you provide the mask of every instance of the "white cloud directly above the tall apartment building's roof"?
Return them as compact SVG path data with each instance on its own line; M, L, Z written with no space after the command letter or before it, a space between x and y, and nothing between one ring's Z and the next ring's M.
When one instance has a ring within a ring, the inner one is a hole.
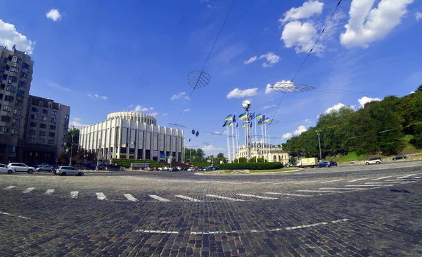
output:
M19 51L25 51L27 54L32 54L35 42L32 42L30 39L27 39L26 36L17 32L15 25L5 23L0 19L0 45L7 46L8 49L12 49L13 45L16 45L15 47Z

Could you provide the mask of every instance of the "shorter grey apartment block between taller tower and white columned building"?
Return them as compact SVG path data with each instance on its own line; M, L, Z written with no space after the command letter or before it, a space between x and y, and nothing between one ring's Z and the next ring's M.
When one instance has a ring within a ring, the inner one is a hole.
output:
M29 97L23 153L27 163L56 163L60 152L66 151L69 115L70 106Z

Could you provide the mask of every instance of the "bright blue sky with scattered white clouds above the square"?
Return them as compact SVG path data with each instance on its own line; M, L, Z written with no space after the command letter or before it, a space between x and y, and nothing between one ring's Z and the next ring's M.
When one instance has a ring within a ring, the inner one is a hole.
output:
M226 153L224 134L212 133L224 132L224 118L240 114L245 99L280 121L271 127L271 143L280 144L320 113L404 96L422 83L422 3L343 0L295 79L316 89L283 101L267 89L292 79L336 4L236 1L205 67L211 82L187 103L187 75L203 68L231 1L0 0L0 44L30 53L30 93L69 104L74 125L143 111L158 125L185 125L187 139L199 130L187 145Z

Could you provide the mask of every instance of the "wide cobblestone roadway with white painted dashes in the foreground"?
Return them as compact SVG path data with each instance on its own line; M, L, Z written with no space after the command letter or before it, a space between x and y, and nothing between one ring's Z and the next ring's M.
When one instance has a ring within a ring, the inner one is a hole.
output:
M422 162L0 175L0 256L422 256Z

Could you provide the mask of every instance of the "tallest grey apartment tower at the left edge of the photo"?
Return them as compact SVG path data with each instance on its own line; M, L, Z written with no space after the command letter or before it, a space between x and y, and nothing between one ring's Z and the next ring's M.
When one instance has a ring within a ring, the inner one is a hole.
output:
M0 162L23 161L23 135L34 61L0 46Z

